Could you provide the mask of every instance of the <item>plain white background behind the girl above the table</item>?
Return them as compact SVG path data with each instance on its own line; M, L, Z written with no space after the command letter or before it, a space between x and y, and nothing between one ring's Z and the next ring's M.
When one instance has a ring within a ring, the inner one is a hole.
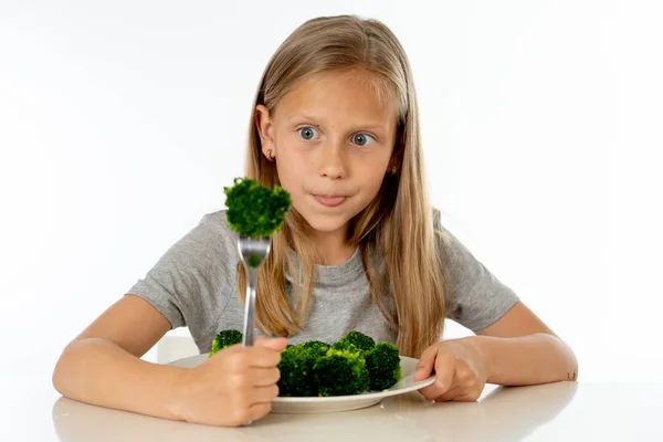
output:
M347 12L410 56L443 222L572 346L581 381L663 380L661 7L326 3L0 3L4 381L50 382L66 343L223 208L269 57Z

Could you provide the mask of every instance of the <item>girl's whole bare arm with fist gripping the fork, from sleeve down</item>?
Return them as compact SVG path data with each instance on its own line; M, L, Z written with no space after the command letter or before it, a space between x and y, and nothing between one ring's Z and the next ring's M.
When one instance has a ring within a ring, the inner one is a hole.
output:
M169 328L148 302L124 296L64 349L53 386L82 402L211 425L236 427L270 412L285 339L224 348L191 369L141 360Z

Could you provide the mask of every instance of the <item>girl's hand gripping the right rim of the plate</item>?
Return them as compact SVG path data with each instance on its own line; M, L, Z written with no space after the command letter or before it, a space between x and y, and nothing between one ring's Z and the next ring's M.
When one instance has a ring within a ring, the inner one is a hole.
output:
M422 380L434 371L435 382L419 390L428 400L473 402L486 385L487 361L481 350L467 338L435 343L427 348L414 380Z

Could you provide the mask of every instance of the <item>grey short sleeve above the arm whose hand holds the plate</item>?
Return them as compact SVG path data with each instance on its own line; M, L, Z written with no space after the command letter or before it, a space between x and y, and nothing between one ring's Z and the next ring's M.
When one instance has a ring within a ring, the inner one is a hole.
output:
M473 332L494 324L517 302L518 296L503 284L486 266L441 223L434 211L438 248L450 277L451 299L446 316Z

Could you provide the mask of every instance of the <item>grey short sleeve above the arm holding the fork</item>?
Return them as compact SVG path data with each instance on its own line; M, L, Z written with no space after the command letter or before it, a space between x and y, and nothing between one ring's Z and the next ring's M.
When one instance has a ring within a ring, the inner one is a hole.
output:
M230 234L219 227L222 217L204 215L126 295L147 301L171 328L188 326L192 335L203 336L228 303L223 294L232 293L236 257Z

